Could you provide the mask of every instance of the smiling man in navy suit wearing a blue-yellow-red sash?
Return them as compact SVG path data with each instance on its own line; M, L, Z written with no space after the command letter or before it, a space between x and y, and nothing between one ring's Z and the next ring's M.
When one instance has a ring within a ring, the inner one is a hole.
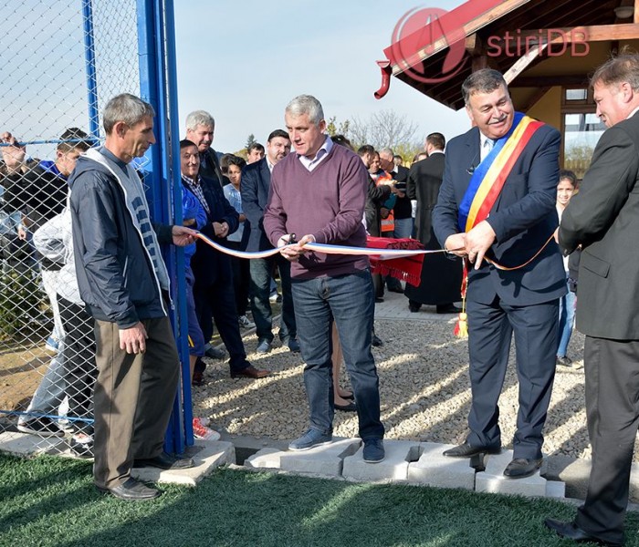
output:
M501 449L498 398L514 332L519 414L514 459L504 475L516 479L541 465L541 431L558 345L558 299L566 293L552 238L558 224L560 133L515 112L497 70L471 74L462 91L475 127L448 144L433 226L446 250L473 264L466 293L473 398L466 442L445 455L468 458ZM485 194L487 182L491 191ZM498 269L485 257L512 269Z

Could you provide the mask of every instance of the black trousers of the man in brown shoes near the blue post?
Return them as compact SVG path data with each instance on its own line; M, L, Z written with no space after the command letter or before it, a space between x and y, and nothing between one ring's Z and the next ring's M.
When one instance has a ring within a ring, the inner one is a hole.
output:
M193 295L195 312L202 328L204 343L213 336L213 321L217 332L226 346L230 356L229 365L232 371L239 371L249 365L246 361L246 350L237 322L236 292L233 290L233 274L230 261L220 262L213 283L201 284L195 275Z

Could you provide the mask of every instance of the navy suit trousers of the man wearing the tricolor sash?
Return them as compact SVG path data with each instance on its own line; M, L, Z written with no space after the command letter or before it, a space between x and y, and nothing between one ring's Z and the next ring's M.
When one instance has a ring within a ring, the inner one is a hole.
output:
M559 301L526 306L468 301L468 353L472 404L468 415L473 446L501 446L498 399L515 334L519 413L515 458L541 458L541 433L555 377Z

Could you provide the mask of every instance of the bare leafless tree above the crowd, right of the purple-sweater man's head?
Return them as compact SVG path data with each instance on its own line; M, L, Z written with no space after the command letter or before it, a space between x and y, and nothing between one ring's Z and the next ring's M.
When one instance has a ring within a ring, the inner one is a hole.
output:
M349 125L351 140L359 145L372 144L377 150L400 144L413 144L418 126L394 110L380 110L368 119L353 118Z

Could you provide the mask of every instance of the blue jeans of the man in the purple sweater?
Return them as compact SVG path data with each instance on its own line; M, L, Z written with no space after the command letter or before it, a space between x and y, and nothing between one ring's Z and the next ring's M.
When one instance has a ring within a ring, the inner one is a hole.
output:
M293 279L299 346L306 366L310 427L333 429L331 329L340 334L346 370L357 403L361 439L382 439L379 378L371 352L374 296L368 270L335 277Z

